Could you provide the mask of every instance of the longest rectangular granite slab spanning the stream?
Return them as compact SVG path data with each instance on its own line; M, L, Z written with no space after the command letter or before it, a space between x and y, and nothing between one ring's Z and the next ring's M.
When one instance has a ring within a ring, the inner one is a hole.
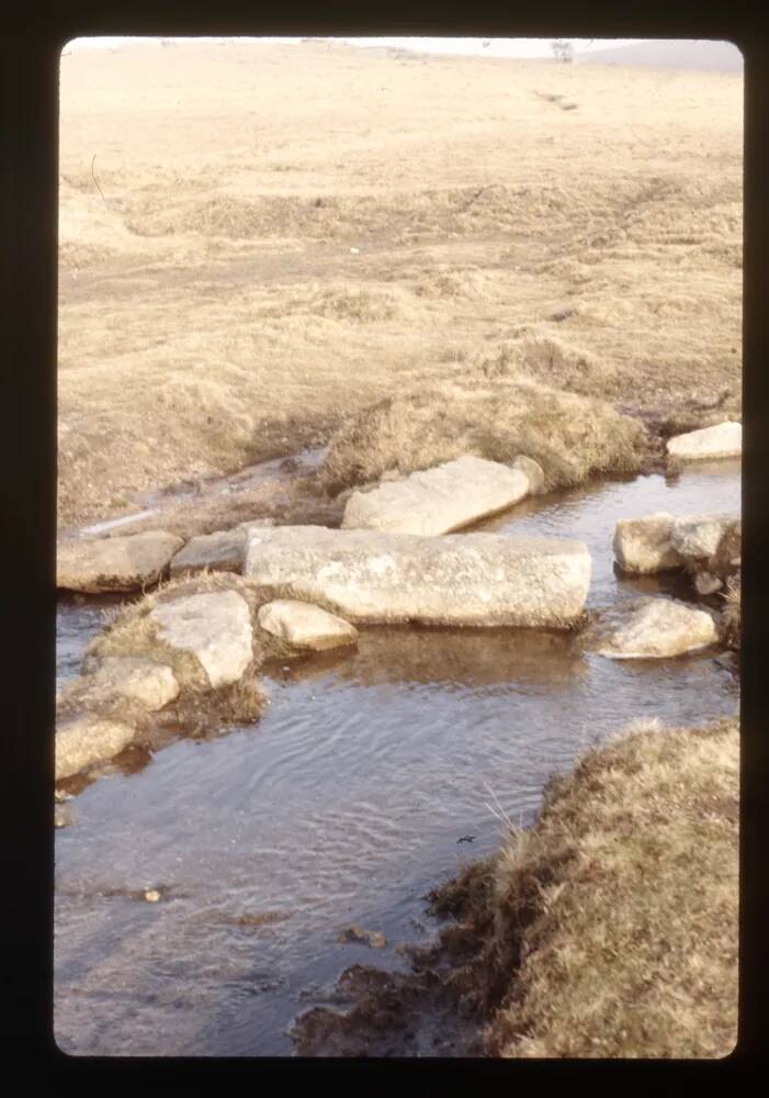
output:
M355 624L568 628L585 606L590 554L557 538L280 526L249 531L245 574L273 598Z

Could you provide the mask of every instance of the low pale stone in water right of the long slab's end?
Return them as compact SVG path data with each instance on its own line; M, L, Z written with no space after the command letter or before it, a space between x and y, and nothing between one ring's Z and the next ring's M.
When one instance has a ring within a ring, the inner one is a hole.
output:
M608 639L601 656L615 660L665 659L714 645L715 621L705 610L654 598Z

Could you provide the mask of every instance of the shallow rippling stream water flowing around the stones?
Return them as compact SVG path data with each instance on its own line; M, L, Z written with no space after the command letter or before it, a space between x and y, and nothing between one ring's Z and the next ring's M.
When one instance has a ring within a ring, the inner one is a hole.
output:
M587 541L602 608L660 590L615 576L618 517L738 508L738 467L722 463L528 501L477 528ZM63 680L92 614L60 607ZM490 791L525 825L547 777L630 720L734 713L716 654L611 661L579 637L404 627L273 668L257 725L180 740L76 799L56 834L59 1044L291 1055L293 1018L350 964L405 967L394 946L433 930L425 893L498 845ZM126 895L152 886L157 904ZM387 948L339 943L352 922Z

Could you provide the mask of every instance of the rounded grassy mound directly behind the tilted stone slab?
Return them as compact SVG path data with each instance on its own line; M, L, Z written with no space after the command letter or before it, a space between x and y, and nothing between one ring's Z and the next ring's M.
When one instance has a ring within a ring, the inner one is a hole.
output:
M647 453L643 426L603 401L497 378L391 396L331 438L320 475L331 491L397 469L427 469L463 453L510 462L539 461L546 488L597 473L631 473Z

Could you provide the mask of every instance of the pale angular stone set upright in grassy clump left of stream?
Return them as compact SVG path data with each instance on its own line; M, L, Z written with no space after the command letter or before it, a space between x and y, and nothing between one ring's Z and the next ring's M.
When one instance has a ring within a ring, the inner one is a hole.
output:
M238 682L251 662L251 618L237 591L170 598L149 616L160 640L197 658L213 687Z

